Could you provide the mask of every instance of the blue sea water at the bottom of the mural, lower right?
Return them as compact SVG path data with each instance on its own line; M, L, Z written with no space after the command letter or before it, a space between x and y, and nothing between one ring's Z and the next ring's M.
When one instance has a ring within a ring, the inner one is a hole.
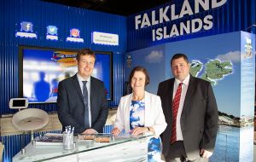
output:
M253 162L253 126L238 128L219 125L210 162Z

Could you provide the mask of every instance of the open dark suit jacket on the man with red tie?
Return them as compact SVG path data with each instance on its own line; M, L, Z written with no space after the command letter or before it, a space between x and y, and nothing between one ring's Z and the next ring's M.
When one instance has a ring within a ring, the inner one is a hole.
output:
M172 134L172 92L175 78L161 82L157 95L160 95L167 127L161 134L163 153L166 156ZM189 160L200 157L200 149L213 151L218 130L218 108L212 86L201 78L190 75L189 87L185 96L180 119L183 144Z

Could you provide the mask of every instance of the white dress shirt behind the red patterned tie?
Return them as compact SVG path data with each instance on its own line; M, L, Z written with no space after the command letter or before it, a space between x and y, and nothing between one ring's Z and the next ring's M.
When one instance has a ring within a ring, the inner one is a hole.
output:
M188 75L184 80L183 80L183 85L182 85L182 93L180 96L180 101L179 101L179 106L178 106L178 110L177 110L177 120L176 120L176 132L177 132L177 141L183 141L183 133L181 130L181 126L180 126L180 117L181 114L183 112L183 105L184 105L184 101L185 101L185 96L187 94L187 90L189 87L189 78L190 75ZM175 93L177 91L177 87L178 84L180 84L181 81L179 81L177 78L175 78L175 82L174 82L174 86L173 86L173 94L172 94L172 101L174 99Z

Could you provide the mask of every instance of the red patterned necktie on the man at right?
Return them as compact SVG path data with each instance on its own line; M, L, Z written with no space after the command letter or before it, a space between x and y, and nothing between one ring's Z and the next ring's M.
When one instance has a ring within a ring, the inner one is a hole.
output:
M172 136L171 136L171 144L177 141L177 132L176 132L176 122L177 122L177 110L180 101L180 95L182 92L183 83L178 84L176 94L172 101Z

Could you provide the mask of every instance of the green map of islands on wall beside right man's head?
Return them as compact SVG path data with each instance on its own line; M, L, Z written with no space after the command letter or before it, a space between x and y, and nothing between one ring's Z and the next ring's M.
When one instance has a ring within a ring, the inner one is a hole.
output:
M199 77L202 69L204 72ZM218 59L210 60L205 65L201 61L192 61L190 64L190 73L194 77L199 77L211 82L213 85L222 80L225 76L233 72L231 61L219 61Z

